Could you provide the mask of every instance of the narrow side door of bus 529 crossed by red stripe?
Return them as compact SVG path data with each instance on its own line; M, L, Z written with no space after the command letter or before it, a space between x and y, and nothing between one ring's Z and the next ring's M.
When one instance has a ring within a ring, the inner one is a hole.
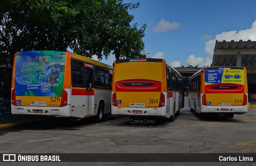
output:
M85 69L85 116L92 114L92 100L94 97L94 90L92 90L92 73L93 70L87 68Z

